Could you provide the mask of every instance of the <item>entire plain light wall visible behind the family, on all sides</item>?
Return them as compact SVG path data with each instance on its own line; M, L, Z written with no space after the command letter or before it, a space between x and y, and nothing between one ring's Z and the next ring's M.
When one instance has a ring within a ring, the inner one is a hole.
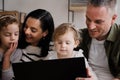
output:
M120 9L120 0L117 0L118 9ZM55 27L59 24L68 22L68 0L4 0L4 9L11 11L29 13L38 8L48 10L54 19ZM2 0L0 0L0 9L2 9ZM70 17L71 18L71 17ZM74 12L74 22L77 28L86 27L85 10ZM120 23L120 10L118 10L118 18L116 23Z

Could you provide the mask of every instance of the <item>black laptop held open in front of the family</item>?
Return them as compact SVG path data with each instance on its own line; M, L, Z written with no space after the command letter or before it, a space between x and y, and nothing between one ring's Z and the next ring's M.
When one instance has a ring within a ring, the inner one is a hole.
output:
M87 77L84 57L13 63L15 80L75 80Z

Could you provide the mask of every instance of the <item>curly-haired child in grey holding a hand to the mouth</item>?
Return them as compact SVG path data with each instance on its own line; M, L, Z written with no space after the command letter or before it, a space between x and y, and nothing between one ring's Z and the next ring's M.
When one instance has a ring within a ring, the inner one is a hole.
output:
M10 80L13 76L10 63L18 62L21 50L16 49L19 39L19 22L14 16L3 15L0 17L0 79Z

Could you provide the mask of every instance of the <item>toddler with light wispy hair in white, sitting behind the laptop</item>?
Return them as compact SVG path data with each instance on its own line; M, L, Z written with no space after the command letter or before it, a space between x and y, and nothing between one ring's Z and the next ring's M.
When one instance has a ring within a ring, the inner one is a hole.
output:
M59 25L53 33L55 51L49 51L49 54L46 57L46 59L84 57L82 54L83 51L81 49L79 51L74 51L74 49L80 44L81 41L82 39L78 31L75 29L74 25L70 23L63 23ZM85 62L86 68L88 69L89 75L91 76L91 78L89 79L97 80L96 76L89 67L86 59Z

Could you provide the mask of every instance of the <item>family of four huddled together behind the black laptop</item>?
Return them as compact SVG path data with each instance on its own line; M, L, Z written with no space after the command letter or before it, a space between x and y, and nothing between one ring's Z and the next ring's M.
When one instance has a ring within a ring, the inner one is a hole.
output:
M120 26L117 0L89 0L87 28L71 23L54 28L51 14L43 9L30 12L19 29L14 16L0 16L0 80L14 79L11 63L85 57L87 78L75 80L120 80ZM54 50L49 51L49 43Z

